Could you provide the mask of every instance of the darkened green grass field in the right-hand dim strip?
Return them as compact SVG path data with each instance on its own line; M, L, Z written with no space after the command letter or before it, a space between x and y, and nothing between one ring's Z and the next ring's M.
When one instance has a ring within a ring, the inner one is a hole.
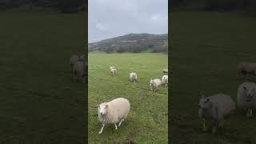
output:
M198 92L230 94L256 78L237 78L238 62L256 62L256 18L243 14L175 12L172 23L172 143L255 143L256 117L237 111L224 123L223 134L202 132ZM207 125L207 124L206 124ZM209 123L208 123L209 126Z

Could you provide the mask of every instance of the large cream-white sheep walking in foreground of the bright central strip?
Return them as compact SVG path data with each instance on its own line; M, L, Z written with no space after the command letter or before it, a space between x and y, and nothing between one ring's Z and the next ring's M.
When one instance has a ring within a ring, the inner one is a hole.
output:
M106 124L114 124L115 130L118 130L118 126L121 126L121 123L124 122L129 111L130 102L126 98L115 98L110 102L103 102L98 105L98 120L102 122L102 129L98 134L102 134Z

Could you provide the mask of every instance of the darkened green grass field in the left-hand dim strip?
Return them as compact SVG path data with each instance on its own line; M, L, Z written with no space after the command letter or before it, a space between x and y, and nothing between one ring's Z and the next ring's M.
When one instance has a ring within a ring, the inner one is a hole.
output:
M85 52L86 14L0 17L0 142L84 142L85 87L68 62Z

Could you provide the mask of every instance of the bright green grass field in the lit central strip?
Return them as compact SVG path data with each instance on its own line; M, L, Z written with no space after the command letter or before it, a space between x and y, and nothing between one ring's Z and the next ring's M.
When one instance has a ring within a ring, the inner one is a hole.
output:
M89 61L89 142L90 143L166 143L168 131L168 90L162 86L154 93L150 78L162 78L162 69L168 66L166 54L98 54L90 53ZM115 76L109 68L117 68ZM138 74L138 83L129 80L130 72ZM130 101L126 121L114 130L114 125L98 134L96 105L118 97Z

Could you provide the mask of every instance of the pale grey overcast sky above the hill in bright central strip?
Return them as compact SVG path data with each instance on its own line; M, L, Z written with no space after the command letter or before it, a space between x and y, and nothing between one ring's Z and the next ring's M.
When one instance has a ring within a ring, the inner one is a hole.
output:
M88 4L89 42L168 32L168 0L89 0Z

